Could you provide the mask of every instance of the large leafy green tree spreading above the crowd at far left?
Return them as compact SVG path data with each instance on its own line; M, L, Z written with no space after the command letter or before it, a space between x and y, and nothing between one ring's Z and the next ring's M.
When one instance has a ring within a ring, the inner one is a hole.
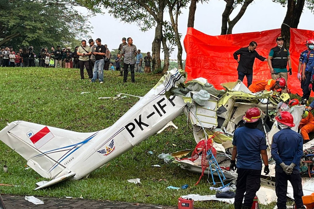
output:
M86 34L87 20L74 8L78 5L74 0L1 0L0 45L51 46Z

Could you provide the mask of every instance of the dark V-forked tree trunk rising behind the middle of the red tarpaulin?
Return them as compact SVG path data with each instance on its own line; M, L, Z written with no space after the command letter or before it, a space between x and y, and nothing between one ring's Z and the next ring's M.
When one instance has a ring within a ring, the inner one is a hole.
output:
M253 2L253 0L224 0L224 1L226 1L226 7L224 12L222 13L221 35L232 34L232 30L235 24L242 18L248 5ZM231 13L238 5L241 5L240 11L237 13L233 20L230 20Z

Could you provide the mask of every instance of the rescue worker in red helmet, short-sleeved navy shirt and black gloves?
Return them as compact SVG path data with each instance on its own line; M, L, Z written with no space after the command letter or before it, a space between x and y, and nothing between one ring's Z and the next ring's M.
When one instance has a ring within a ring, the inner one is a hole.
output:
M235 130L230 164L230 169L235 170L236 167L237 172L235 209L251 209L256 192L261 186L262 161L265 175L269 173L265 135L257 129L261 116L260 108L248 109L242 117L245 126Z

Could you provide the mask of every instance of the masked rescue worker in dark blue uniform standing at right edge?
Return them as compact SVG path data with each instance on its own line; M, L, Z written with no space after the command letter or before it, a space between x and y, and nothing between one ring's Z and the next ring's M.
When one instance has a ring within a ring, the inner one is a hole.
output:
M311 90L313 87L313 68L314 68L314 40L308 40L307 46L309 47L309 52L304 57L304 63L302 66L302 91L303 96L301 100L302 105L306 105L307 101L309 100Z

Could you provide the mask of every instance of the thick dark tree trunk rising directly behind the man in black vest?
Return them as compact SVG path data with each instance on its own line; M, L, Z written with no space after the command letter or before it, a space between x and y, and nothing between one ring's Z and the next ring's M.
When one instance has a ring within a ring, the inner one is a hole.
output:
M297 28L304 7L305 0L288 0L287 13L284 22L281 25L281 36L285 38L285 46L290 46L290 27Z

